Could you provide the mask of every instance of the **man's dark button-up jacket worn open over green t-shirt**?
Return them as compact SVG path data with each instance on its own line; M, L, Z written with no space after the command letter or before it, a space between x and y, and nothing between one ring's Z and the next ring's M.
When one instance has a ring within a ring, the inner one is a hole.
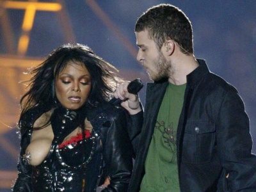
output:
M205 60L187 76L177 127L180 191L256 191L256 156L244 103L234 86L212 74ZM148 83L129 192L140 191L145 161L168 81ZM144 116L143 116L144 115ZM142 125L143 124L143 125ZM136 128L136 126L133 126ZM134 139L135 141L135 139ZM228 177L227 177L228 175Z

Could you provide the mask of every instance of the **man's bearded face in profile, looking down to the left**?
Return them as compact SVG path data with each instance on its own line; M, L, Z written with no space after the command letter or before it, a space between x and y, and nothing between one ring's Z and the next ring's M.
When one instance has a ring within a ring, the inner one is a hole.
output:
M141 62L150 79L159 81L169 77L172 63L164 57L163 47L161 51L157 49L154 40L149 38L147 30L136 32L136 40L139 47L137 60Z

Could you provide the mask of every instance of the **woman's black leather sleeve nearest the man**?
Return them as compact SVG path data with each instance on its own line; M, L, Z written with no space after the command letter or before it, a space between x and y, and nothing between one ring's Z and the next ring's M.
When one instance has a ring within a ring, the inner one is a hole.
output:
M106 173L110 184L102 191L127 191L132 173L132 145L127 132L125 111L120 109L114 113L113 120L106 136L104 159Z

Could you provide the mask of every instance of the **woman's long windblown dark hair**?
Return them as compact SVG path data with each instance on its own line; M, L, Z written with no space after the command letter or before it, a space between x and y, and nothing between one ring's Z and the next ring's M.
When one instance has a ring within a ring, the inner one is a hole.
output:
M95 106L111 99L111 93L122 79L118 70L107 61L93 53L92 49L82 44L65 44L49 54L48 58L31 70L29 90L20 99L22 114L37 105L44 105L45 111L56 107L54 82L68 61L84 65L91 77L91 92L87 99L88 106Z

